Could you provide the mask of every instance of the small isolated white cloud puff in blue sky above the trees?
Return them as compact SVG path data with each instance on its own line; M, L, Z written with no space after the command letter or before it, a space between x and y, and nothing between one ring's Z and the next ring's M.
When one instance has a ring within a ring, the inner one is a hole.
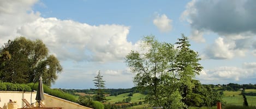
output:
M163 14L162 16L158 15L153 20L153 23L161 32L168 32L172 29L172 20L170 20L165 14Z

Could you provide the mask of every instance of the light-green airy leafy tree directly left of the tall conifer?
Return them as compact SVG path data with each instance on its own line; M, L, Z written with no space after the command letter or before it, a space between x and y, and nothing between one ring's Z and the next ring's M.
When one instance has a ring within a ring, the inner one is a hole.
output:
M172 105L183 107L180 93L176 93L176 88L173 88L174 78L168 72L170 63L175 60L174 46L159 42L154 36L146 36L141 49L146 50L146 53L132 51L126 56L125 61L131 72L135 74L136 86L148 90L146 101L152 106L164 108L172 108L170 107Z

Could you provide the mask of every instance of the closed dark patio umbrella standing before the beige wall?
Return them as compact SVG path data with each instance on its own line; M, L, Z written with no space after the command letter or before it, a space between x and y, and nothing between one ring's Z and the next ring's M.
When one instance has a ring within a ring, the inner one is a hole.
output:
M35 100L38 101L38 106L40 107L40 101L44 100L44 87L43 87L43 81L42 77L39 78L38 83L38 91L37 91L37 97L35 97Z

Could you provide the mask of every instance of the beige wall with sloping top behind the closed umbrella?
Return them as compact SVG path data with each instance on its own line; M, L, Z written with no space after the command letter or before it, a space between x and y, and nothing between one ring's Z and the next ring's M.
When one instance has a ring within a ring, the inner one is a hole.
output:
M9 99L16 101L17 108L21 108L26 104L21 99L26 99L29 103L35 103L36 92L16 92L16 91L0 91L0 107L8 109ZM31 99L32 98L32 99ZM62 107L64 109L92 109L79 105L75 102L64 100L61 98L53 97L52 95L44 93L45 107Z

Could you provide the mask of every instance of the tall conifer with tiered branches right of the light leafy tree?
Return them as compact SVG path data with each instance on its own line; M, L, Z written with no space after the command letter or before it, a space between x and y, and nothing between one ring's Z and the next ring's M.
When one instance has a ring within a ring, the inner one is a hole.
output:
M187 93L192 90L194 84L192 80L195 77L195 74L199 74L203 67L199 64L201 60L197 52L189 49L188 37L181 34L182 38L178 39L177 48L178 52L175 57L175 61L172 62L172 67L170 72L176 75L175 78L180 80L180 91L182 94L183 102L188 105Z

